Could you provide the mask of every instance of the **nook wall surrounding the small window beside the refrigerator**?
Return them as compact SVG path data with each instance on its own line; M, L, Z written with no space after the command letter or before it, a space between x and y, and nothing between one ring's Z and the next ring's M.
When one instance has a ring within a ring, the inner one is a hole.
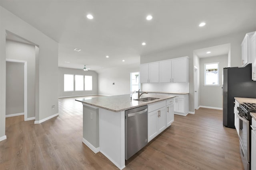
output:
M204 86L204 64L219 62L220 86ZM223 68L228 66L228 55L200 59L200 106L222 108L222 75Z

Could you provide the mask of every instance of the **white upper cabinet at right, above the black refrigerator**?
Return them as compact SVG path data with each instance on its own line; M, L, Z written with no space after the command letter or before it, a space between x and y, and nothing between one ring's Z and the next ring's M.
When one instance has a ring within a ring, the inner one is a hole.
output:
M254 32L251 33L246 33L241 47L242 47L242 66L246 66L249 63L252 63L252 53L251 53L251 48L252 48L252 43L251 43L251 38Z

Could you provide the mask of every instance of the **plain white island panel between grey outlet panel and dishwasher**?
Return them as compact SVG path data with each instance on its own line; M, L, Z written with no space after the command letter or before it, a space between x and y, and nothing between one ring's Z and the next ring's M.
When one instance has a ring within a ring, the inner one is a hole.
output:
M119 169L125 168L124 111L99 109L100 152Z

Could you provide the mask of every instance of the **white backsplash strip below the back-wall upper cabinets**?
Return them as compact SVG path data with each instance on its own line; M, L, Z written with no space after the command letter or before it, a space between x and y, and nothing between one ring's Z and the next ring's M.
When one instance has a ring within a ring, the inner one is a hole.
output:
M140 91L189 93L189 83L143 83Z

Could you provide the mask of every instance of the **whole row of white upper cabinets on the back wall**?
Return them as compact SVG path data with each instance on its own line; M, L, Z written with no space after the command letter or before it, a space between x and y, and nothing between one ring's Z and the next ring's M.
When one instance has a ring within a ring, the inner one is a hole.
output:
M188 82L188 57L140 65L140 83Z

